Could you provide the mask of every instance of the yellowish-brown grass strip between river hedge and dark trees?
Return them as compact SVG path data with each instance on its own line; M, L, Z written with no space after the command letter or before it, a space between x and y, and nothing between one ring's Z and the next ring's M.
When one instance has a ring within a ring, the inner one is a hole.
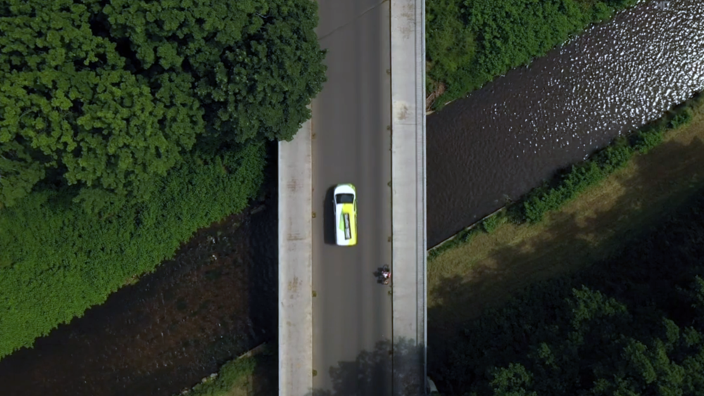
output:
M704 186L704 111L646 155L537 225L503 224L428 264L429 332L457 324L536 281L574 272L617 251ZM438 334L436 334L438 336Z

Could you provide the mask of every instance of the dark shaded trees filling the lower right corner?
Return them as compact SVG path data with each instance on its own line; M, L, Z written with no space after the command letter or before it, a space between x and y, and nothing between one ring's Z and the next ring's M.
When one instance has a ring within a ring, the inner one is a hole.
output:
M699 395L703 192L620 252L572 276L536 283L459 326L448 355L429 364L439 388L477 396ZM515 246L503 253L532 255ZM445 290L454 298L454 290Z

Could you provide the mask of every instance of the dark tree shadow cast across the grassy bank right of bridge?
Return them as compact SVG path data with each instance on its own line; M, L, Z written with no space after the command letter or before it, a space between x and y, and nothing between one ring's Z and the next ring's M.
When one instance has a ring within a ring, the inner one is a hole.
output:
M672 288L667 280L672 279L670 264L640 264L648 260L648 249L655 249L653 255L665 257L662 249L672 247L651 244L642 248L643 252L628 253L629 247L679 213L677 210L694 205L693 200L704 188L704 142L698 137L688 143L669 141L648 155L637 155L634 161L634 175L617 177L623 193L608 210L587 219L577 219L575 213L555 213L543 234L493 250L494 265L480 265L470 274L445 277L429 290L438 304L428 309L428 367L439 390L451 395L467 392L473 381L484 378L491 364L501 361L489 357L489 349L504 351L507 356L527 353L534 333L567 309L562 299L555 300L555 288L565 294L584 284L629 301L650 301L661 292L667 295L662 290ZM674 195L673 189L677 191ZM696 216L691 219L701 221ZM612 232L617 224L629 227ZM565 229L576 231L565 234ZM612 235L593 243L588 238L593 233ZM555 250L555 241L567 246L562 250L569 254L536 263L536 253ZM704 251L700 253L704 257ZM630 258L624 259L624 254ZM593 264L589 265L590 261ZM516 262L521 264L507 264ZM657 304L664 307L673 302L666 298ZM505 323L500 325L498 321ZM457 357L458 350L472 353ZM453 354L456 358L450 361Z

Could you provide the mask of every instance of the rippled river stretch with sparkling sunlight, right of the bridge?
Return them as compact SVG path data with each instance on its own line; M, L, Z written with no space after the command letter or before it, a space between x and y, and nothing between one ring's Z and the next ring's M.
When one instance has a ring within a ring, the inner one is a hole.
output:
M427 117L428 246L704 87L704 1L650 1Z

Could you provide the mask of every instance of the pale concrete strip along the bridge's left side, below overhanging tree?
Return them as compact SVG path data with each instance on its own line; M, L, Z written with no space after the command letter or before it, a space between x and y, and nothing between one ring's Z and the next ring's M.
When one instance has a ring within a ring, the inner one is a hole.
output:
M279 395L313 390L312 121L279 142Z

